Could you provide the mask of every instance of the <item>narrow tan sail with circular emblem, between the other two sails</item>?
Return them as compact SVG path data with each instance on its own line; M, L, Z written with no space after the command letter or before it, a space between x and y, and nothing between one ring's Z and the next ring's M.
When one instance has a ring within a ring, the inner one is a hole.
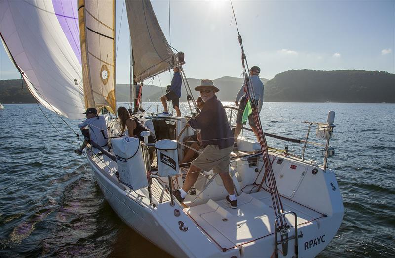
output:
M115 1L78 0L86 107L116 111Z

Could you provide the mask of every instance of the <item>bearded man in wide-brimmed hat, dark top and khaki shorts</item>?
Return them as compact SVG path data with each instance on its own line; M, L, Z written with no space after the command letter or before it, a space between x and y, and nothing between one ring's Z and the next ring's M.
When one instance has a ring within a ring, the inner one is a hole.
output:
M229 195L226 201L231 208L237 208L237 200L232 178L229 174L229 163L233 150L233 134L227 115L221 101L215 95L219 89L212 80L201 80L195 87L204 101L204 108L195 118L188 120L190 127L199 129L197 139L203 147L202 153L191 162L185 182L180 190L174 190L173 195L182 203L187 192L195 184L199 171L218 173Z

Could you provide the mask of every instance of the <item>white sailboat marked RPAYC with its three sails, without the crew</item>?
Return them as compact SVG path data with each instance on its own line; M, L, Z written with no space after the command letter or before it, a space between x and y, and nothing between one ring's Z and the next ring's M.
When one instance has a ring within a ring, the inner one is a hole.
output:
M0 10L3 45L42 105L70 119L80 119L86 107L115 113L114 1L5 0L0 1ZM149 144L119 137L119 121L109 121L111 146L92 143L86 158L119 218L174 257L319 254L335 236L344 214L335 172L327 167L333 154L329 143L334 113L325 122L308 122L304 140L276 136L303 144L299 156L237 139L229 170L237 209L226 203L227 192L212 171L202 171L194 191L179 203L171 192L182 186L189 165L178 163L186 148L181 139L195 131L185 117L144 114L141 93L144 80L180 67L191 113L195 112L182 69L184 54L173 53L149 1L126 1L126 10L133 53L131 109L144 117L163 143L155 146L157 157L170 157L172 169L158 158L152 166ZM325 140L323 164L304 157L315 125Z

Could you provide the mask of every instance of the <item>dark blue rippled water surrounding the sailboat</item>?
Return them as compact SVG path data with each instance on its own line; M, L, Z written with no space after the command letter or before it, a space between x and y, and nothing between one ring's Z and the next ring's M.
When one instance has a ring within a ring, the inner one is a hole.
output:
M302 122L324 122L329 110L336 111L337 124L329 167L345 215L319 257L394 257L395 105L264 103L262 124L267 132L303 138ZM36 104L0 110L0 256L168 256L117 217L85 157L73 153L79 145L72 131L56 114L44 113L65 137ZM77 130L79 121L66 122ZM300 154L299 145L288 147ZM307 152L322 161L319 150Z

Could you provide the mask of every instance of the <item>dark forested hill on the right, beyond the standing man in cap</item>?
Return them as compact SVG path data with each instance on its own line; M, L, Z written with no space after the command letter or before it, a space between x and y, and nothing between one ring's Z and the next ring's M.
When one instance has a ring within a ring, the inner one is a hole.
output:
M395 74L364 70L286 71L265 84L265 101L395 103Z

